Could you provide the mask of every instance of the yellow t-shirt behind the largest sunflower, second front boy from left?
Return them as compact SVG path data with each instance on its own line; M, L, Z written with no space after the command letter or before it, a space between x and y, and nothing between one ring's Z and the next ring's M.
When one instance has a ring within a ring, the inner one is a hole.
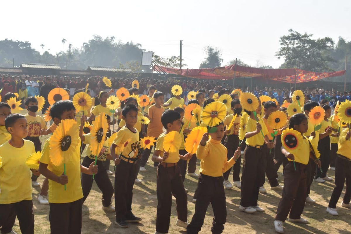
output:
M50 138L44 143L41 151L40 162L48 164L48 169L57 176L64 172L64 163L60 166L54 166L50 160ZM83 197L82 184L80 181L80 141L77 148L68 159L65 159L66 175L68 183L66 190L63 185L53 180L49 180L49 201L50 203L69 203L77 201Z

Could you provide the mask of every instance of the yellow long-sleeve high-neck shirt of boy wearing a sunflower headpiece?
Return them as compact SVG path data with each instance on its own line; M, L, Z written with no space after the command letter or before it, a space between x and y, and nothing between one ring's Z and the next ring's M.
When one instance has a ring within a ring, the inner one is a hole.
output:
M201 160L200 173L213 177L222 176L235 163L232 159L227 160L227 148L213 139L208 140L205 146L199 145L196 156Z

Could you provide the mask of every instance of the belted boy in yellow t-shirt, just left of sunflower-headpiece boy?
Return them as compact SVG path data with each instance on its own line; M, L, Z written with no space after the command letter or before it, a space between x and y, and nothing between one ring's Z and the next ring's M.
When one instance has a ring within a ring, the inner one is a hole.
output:
M167 133L172 131L179 132L181 128L180 114L173 110L165 111L161 116L161 122L166 129L156 142L152 161L159 162L157 167L157 214L156 214L156 234L168 233L171 219L172 194L177 203L177 226L186 228L188 223L187 195L184 189L183 180L178 166L179 159L187 160L190 154L179 154L176 152L166 152L163 148L163 141Z

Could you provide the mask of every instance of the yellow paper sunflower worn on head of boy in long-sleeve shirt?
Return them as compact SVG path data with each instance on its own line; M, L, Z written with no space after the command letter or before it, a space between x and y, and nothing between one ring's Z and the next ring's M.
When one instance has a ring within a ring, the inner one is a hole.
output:
M226 105L222 102L214 101L202 110L200 117L207 126L214 127L223 121L226 114Z

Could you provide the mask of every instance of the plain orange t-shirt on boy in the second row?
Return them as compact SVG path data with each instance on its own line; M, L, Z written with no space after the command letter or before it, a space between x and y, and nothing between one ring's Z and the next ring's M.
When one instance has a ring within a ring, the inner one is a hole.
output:
M163 106L156 107L152 105L148 109L148 115L152 120L147 126L147 136L159 137L163 133L161 115L165 111Z

